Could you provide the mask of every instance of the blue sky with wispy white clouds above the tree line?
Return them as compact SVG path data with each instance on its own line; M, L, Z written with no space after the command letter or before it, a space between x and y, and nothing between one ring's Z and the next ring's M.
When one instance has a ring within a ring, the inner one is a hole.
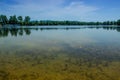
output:
M0 14L32 20L113 21L120 19L120 0L0 0Z

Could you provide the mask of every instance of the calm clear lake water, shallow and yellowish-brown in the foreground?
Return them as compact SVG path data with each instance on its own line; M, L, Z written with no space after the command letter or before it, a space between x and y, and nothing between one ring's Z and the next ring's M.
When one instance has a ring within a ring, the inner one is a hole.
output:
M0 80L120 80L120 28L0 28Z

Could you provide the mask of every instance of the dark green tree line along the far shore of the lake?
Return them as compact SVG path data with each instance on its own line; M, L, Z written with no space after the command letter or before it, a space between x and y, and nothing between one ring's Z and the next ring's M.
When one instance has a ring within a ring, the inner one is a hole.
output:
M104 22L82 22L82 21L51 21L51 20L40 20L40 21L31 21L30 16L10 16L9 18L6 15L0 15L0 24L17 24L17 25L120 25L120 19L117 21L104 21Z

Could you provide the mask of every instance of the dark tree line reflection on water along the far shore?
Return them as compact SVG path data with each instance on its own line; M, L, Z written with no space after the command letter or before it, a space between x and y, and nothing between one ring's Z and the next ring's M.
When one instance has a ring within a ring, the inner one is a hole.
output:
M23 36L24 34L26 35L30 35L32 30L40 30L40 31L44 31L44 30L58 30L58 29L63 29L63 30L74 30L74 29L104 29L104 30L116 30L117 32L120 32L120 27L107 27L107 26L103 26L103 27L55 27L55 28L51 28L51 27L45 27L45 28L1 28L0 29L0 37L7 37L9 34L11 36Z

